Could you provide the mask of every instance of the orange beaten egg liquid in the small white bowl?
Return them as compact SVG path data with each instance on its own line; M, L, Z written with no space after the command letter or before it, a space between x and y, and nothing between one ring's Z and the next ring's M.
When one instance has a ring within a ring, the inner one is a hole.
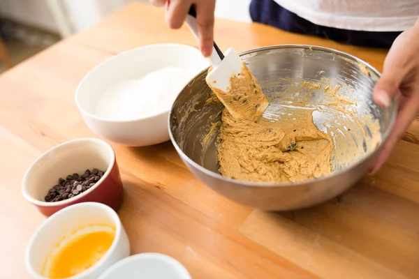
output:
M96 264L110 248L115 232L89 232L76 236L51 261L49 278L68 278Z

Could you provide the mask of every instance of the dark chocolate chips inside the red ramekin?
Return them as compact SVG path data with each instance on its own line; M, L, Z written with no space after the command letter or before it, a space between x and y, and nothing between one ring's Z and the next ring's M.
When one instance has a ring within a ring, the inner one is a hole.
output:
M80 195L101 179L104 172L98 169L86 169L84 174L68 174L66 179L58 179L57 185L48 190L45 202L59 202Z

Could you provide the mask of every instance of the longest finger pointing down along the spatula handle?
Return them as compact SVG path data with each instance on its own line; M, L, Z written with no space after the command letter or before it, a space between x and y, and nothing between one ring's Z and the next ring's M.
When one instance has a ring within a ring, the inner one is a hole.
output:
M196 5L200 51L205 57L211 56L214 45L214 10L214 0L200 1Z

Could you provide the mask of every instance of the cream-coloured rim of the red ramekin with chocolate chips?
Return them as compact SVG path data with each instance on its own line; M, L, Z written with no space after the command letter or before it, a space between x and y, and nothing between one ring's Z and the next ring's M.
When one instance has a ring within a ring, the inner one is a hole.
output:
M27 181L30 179L29 174L30 174L31 170L35 167L35 165L37 165L38 162L41 159L47 157L48 154L50 154L51 152L56 151L57 149L60 149L63 146L76 144L78 142L94 142L94 144L103 144L103 146L105 146L105 148L108 149L108 151L110 151L110 154L111 154L110 163L108 164L108 168L103 173L103 176L101 177L101 179L99 179L94 184L93 187L85 190L80 195L77 195L75 197L71 197L70 199L64 199L64 200L59 201L59 202L43 202L42 200L35 199L34 197L32 197L32 195L30 195L27 191ZM55 207L55 206L65 206L65 205L68 205L68 204L73 204L73 202L76 202L76 201L78 201L78 199L81 199L82 197L88 195L91 192L91 190L94 190L94 189L98 188L99 186L101 186L102 182L105 181L105 179L109 176L109 174L112 171L112 168L114 167L114 165L115 165L115 151L112 148L112 146L110 146L110 144L108 144L108 142L105 142L104 140L96 139L94 137L83 137L83 138L80 138L80 139L68 140L67 142L63 142L61 144L58 144L58 145L52 147L51 149L48 149L47 151L42 153L40 156L38 156L38 158L36 158L33 163L31 163L31 165L27 168L26 172L24 173L24 176L23 176L23 179L22 179L22 185L21 185L22 195L24 196L25 199L27 199L28 202L31 202L31 204L34 204L36 206Z

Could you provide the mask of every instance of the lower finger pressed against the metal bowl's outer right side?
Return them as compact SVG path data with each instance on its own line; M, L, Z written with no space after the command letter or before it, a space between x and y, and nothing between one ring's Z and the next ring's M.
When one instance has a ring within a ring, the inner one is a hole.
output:
M419 93L419 92L416 92ZM395 126L392 129L392 132L388 136L387 142L383 146L383 151L381 151L380 156L376 160L376 163L369 170L369 174L375 174L378 169L385 163L385 161L390 157L392 149L396 146L397 142L402 139L405 131L409 128L409 125L412 123L413 119L416 118L419 112L419 97L418 94L413 96L408 100L402 110L397 114L395 121Z

